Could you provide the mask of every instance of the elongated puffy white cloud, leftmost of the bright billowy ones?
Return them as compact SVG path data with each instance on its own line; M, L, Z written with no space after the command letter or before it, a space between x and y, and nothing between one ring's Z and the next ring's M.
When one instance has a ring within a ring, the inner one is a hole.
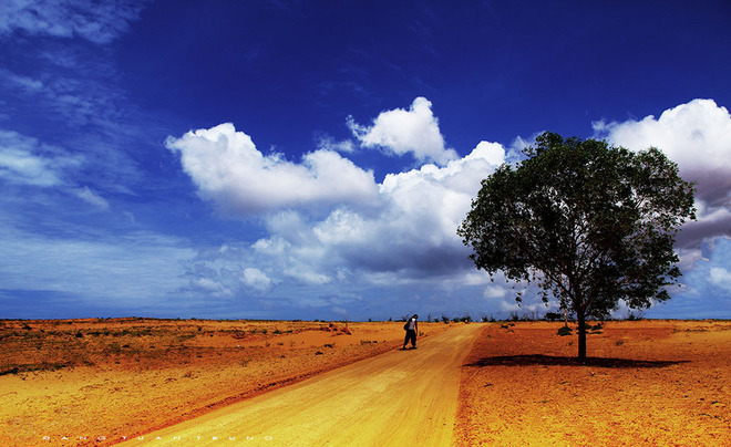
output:
M168 137L166 146L181 155L200 197L229 214L250 216L334 204L371 206L377 199L373 173L338 153L318 149L299 164L281 154L264 155L233 124Z

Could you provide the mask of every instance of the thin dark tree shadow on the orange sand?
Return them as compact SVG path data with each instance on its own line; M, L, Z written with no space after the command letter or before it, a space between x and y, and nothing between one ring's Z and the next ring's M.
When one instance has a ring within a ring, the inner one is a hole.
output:
M480 358L465 366L485 367L485 366L596 366L609 368L655 368L668 367L681 363L688 363L687 360L679 361L652 361L652 360L631 360L631 358L608 358L608 357L586 357L581 361L578 357L554 356L542 354L528 355L498 355L493 357Z

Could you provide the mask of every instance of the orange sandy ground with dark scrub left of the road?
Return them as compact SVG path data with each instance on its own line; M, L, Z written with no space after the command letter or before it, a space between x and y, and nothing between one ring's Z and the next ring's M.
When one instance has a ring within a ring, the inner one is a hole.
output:
M0 322L0 445L113 444L394 350L402 325ZM422 336L447 328L420 323Z

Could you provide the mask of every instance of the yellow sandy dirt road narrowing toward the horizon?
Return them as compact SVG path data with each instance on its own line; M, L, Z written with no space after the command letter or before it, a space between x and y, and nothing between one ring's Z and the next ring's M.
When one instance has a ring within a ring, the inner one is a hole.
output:
M466 324L127 440L155 446L450 446Z

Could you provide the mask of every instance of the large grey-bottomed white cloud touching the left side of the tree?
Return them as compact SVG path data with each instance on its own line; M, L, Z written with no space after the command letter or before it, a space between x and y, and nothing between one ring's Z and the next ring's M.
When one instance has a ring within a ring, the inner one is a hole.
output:
M267 219L270 236L253 249L259 263L278 263L282 274L306 284L359 279L395 285L455 272L470 282L474 269L456 228L480 181L503 162L501 154L500 145L483 144L445 167L390 174L380 185L378 214L337 207L321 220L308 220L282 211Z

